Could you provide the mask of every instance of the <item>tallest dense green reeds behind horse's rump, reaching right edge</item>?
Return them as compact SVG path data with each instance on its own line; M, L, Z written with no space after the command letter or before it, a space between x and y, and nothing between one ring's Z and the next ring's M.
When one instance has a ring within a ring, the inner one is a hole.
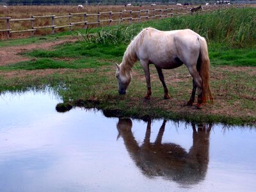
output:
M232 8L204 15L173 17L159 25L162 30L192 29L209 42L235 47L256 43L256 8Z

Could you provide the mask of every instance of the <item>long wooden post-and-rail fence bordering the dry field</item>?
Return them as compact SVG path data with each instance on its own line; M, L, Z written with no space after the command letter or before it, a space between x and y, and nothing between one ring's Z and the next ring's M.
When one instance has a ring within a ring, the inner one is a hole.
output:
M213 10L227 9L227 8L241 8L245 4L218 4L203 6L203 10L200 12L211 12ZM0 29L0 33L6 33L6 37L9 39L12 33L31 33L31 36L35 34L35 31L40 29L51 29L51 34L54 33L54 29L58 28L69 28L72 31L72 27L76 25L82 25L83 28L87 28L90 25L100 26L100 25L110 25L112 23L118 22L134 22L149 19L159 19L168 18L173 15L189 15L191 14L191 7L172 7L164 9L154 9L154 10L123 10L120 12L98 12L98 13L69 13L68 15L56 16L56 15L42 15L42 16L31 16L31 18L26 19L12 19L11 17L0 17L0 20L6 20L6 29ZM83 20L77 21L74 17L83 18ZM68 23L61 26L56 26L54 21L58 19L68 19ZM51 19L51 25L48 26L35 26L36 19ZM72 21L74 19L74 21ZM31 28L13 30L13 22L31 22Z

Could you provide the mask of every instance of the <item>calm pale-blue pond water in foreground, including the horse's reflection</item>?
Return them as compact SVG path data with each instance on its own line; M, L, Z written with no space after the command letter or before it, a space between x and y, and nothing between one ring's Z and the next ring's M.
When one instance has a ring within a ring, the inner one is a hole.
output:
M58 113L0 95L0 191L255 191L256 129Z

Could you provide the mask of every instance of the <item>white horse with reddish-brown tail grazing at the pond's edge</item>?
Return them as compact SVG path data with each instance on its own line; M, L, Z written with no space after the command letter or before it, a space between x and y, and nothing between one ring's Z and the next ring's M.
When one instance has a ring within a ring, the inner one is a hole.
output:
M193 91L187 105L192 106L195 100L196 88L198 100L195 109L201 109L202 103L212 99L210 90L210 60L205 38L190 29L175 31L159 31L154 28L143 29L128 45L122 63L116 63L116 77L118 92L122 95L131 82L131 70L134 63L140 60L147 82L147 95L150 99L150 71L149 64L153 63L157 69L159 79L164 87L164 99L170 99L168 88L164 82L162 68L171 69L180 67L183 63L188 67L193 77Z

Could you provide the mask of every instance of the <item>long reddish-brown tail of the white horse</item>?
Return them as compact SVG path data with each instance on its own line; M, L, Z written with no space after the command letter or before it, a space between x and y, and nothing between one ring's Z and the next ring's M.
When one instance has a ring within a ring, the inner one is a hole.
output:
M210 60L205 38L198 38L200 43L200 54L198 58L199 75L202 79L202 103L207 102L209 98L213 102L210 90Z

